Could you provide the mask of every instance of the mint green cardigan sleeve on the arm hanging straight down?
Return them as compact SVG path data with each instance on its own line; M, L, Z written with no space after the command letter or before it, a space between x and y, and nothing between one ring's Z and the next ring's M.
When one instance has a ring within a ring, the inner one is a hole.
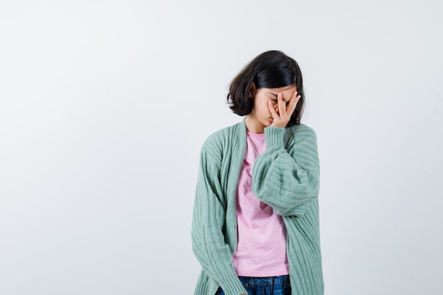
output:
M226 295L246 294L238 279L229 245L224 240L225 209L220 185L221 157L217 149L203 146L195 190L192 216L192 250L203 271L224 290Z

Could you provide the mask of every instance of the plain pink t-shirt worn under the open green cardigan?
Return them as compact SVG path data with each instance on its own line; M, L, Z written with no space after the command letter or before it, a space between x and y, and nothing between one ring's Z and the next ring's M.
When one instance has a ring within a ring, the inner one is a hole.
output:
M242 277L289 274L282 216L275 214L272 207L261 202L252 192L253 163L266 151L265 134L247 132L246 144L237 186L238 245L234 252L234 268Z

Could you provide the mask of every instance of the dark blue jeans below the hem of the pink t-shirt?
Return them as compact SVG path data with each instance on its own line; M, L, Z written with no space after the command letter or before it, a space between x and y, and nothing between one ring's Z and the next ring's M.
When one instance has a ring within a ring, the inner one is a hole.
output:
M238 277L248 295L291 295L289 275L280 277ZM215 295L224 295L222 288Z

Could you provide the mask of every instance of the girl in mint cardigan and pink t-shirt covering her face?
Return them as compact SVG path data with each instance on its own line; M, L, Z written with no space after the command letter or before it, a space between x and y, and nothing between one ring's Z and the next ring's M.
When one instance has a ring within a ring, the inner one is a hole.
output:
M202 146L195 295L323 294L318 152L315 132L300 124L299 65L280 51L258 55L231 82L228 102L245 117Z

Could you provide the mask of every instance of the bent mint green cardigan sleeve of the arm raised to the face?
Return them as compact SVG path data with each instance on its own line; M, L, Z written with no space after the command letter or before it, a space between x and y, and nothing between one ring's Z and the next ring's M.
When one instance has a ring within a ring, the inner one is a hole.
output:
M301 216L318 197L319 164L316 134L306 125L286 130L266 127L267 150L253 166L253 193L282 216Z

